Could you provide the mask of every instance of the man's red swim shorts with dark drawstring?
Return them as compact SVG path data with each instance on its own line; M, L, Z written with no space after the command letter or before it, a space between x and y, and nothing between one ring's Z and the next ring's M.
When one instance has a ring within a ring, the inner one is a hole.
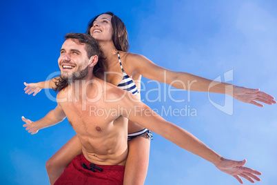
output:
M125 166L94 165L82 155L77 155L65 168L54 185L123 184Z

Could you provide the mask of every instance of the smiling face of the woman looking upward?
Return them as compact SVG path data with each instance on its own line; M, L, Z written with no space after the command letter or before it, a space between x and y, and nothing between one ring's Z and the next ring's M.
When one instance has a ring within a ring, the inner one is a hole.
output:
M96 41L112 41L112 15L99 15L90 28L90 35Z

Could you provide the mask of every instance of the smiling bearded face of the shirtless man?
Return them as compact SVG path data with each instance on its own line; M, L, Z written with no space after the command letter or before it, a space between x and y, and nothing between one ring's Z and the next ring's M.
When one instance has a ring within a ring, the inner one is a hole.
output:
M90 59L85 50L85 43L81 44L76 39L67 39L61 47L60 54L58 62L61 79L74 81L88 75Z

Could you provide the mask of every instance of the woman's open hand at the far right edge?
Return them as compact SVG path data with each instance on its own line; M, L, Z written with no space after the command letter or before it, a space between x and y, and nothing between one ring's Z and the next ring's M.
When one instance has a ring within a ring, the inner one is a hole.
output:
M268 95L267 93L261 92L259 89L243 88L239 86L234 86L233 97L239 101L245 103L254 104L255 106L263 107L257 101L263 102L265 104L276 104L274 97Z

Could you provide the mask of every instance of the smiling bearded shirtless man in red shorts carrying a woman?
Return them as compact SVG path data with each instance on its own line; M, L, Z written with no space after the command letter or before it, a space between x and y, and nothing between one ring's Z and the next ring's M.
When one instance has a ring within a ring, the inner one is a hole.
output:
M94 77L99 46L90 35L70 33L65 39L58 60L61 80L57 84L57 107L39 121L22 117L29 133L37 133L68 117L79 137L83 154L72 160L55 184L123 184L127 119L212 162L240 183L238 175L250 182L254 182L251 178L260 181L256 175L261 173L244 167L245 160L237 162L221 157L186 130L165 121L140 101L134 101L131 93Z

